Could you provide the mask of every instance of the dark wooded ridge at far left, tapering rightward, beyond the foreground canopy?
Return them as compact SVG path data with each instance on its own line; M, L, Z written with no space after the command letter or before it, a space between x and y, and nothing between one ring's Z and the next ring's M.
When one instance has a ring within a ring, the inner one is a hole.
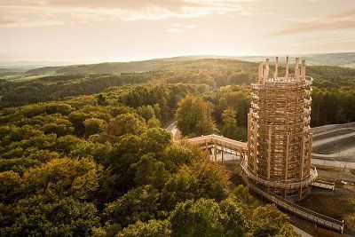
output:
M23 105L78 95L91 95L106 88L131 83L146 83L154 73L127 75L51 75L24 82L0 82L4 105Z

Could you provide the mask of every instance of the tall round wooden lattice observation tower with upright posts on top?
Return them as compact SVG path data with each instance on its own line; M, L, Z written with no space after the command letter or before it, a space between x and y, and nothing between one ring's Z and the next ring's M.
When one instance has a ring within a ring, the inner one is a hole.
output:
M269 59L260 62L258 79L251 84L253 101L248 113L248 160L243 162L249 183L268 194L303 198L310 192L317 170L311 166L312 78L305 61L295 74L278 75L279 62L270 73Z

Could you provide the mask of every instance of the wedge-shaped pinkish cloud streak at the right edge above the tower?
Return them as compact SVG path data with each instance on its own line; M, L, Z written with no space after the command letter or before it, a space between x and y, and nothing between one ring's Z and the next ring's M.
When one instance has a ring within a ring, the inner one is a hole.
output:
M355 9L341 12L324 18L312 18L308 20L297 20L286 28L273 31L266 36L286 36L315 31L340 30L355 28Z

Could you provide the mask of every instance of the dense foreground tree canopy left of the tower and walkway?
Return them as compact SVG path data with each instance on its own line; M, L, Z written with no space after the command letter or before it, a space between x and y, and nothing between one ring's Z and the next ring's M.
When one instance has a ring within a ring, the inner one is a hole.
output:
M138 86L1 110L1 236L296 236L286 215L231 190L207 154L160 128L152 95L197 85Z

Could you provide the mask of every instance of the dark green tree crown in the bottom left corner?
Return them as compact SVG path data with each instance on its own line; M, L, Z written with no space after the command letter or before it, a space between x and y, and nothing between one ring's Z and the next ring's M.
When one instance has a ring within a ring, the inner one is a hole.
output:
M72 197L34 196L21 200L11 215L12 225L0 227L2 236L88 236L91 228L99 227L93 203Z

